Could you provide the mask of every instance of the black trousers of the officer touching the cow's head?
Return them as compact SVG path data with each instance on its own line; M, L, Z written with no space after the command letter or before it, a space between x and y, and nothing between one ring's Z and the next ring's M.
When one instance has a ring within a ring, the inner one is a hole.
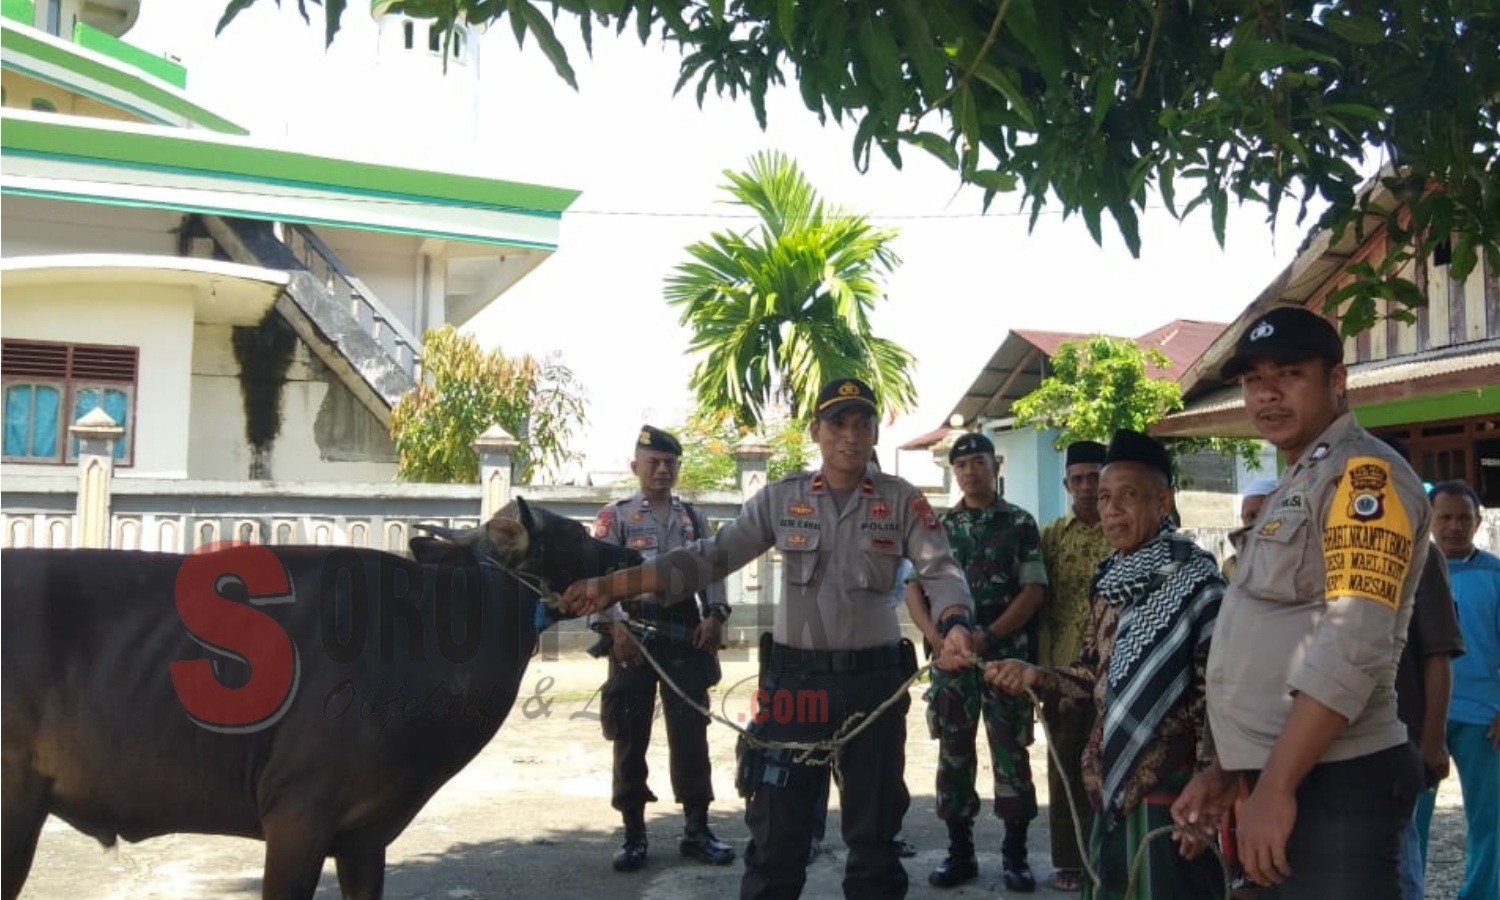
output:
M838 674L768 669L760 676L765 720L754 730L776 741L826 738L850 712L872 711L885 702L906 676L900 664ZM904 780L909 708L910 698L903 694L846 744L840 756L843 840L849 848L843 892L850 900L906 896L906 870L894 838L910 806ZM826 765L792 764L784 784L756 786L746 801L750 843L744 854L741 900L801 896L814 806L822 800L828 777Z

